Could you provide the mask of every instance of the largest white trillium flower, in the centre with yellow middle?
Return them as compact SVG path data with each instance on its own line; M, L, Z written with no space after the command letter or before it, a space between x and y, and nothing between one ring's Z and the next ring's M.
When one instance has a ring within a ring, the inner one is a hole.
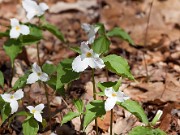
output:
M99 54L89 48L87 42L81 43L81 55L77 56L72 62L72 69L76 72L84 71L88 66L91 68L103 68L104 62L99 58Z

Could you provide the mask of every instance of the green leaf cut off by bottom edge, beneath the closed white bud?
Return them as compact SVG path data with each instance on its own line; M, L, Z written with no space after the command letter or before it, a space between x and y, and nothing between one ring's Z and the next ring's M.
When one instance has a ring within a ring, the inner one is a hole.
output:
M149 127L137 126L128 135L166 135L166 133L158 128L151 129Z

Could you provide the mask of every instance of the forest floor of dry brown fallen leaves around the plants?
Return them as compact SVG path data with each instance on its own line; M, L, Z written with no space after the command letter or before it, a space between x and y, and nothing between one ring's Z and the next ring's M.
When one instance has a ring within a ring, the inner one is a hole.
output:
M40 44L42 62L58 64L64 58L76 56L77 54L69 50L67 46L79 46L87 39L81 29L82 23L101 22L107 30L115 26L123 28L130 34L136 46L113 38L110 53L126 58L136 79L136 81L123 80L124 92L131 99L142 104L150 120L155 116L157 110L163 110L158 127L168 135L180 135L179 0L154 0L153 3L152 0L43 0L43 2L50 7L46 13L47 20L58 26L69 44L64 44L50 33L45 32L46 39ZM0 0L0 31L3 31L3 25L9 25L9 19L14 17L26 21L21 3L18 0ZM0 39L0 70L5 75L5 89L8 89L11 68L10 59L2 47L3 43L4 39ZM15 61L16 74L12 84L35 61L37 61L36 47L27 46L26 51ZM95 75L96 82L106 81L104 71L97 71ZM109 79L115 81L119 77L109 73ZM25 88L25 91L29 93L27 101L46 103L44 90L38 84ZM2 92L3 90L0 89L0 93ZM37 93L40 93L39 96ZM53 92L50 90L50 93ZM73 109L72 99L92 99L91 71L87 70L83 73L81 78L67 90L67 93L69 95L65 100ZM62 115L68 112L68 108L59 95L52 95L50 100L53 130L60 135L76 134L80 128L79 119L59 126L58 123L61 122ZM102 135L109 134L109 121L109 112L104 120L98 120ZM115 133L126 135L129 130L140 124L130 113L120 107L115 107L113 126ZM86 131L89 135L95 132L93 126L94 123ZM18 123L14 123L6 135L10 131L16 135L18 129L21 127ZM51 132L47 130L41 134L49 135Z

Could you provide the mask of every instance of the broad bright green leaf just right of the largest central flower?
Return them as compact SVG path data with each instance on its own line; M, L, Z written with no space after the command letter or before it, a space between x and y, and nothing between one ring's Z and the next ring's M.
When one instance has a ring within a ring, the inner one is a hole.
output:
M103 61L109 71L134 80L134 77L130 72L130 67L126 59L122 58L121 56L112 54L104 57Z

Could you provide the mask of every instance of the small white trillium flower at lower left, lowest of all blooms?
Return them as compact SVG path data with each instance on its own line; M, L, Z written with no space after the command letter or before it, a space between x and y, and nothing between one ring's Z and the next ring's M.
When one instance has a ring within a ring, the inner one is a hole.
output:
M39 104L35 107L33 106L28 106L27 107L30 111L30 113L32 113L34 115L34 118L39 121L39 122L42 122L42 110L44 109L44 104Z

